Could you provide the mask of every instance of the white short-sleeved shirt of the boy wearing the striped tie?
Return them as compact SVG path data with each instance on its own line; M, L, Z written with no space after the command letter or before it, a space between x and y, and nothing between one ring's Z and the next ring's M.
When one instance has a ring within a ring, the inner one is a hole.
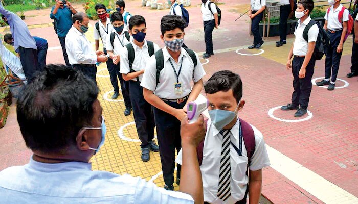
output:
M239 120L238 120L239 121ZM230 141L239 148L239 122L230 130ZM266 166L270 166L269 155L267 154L266 145L263 140L262 133L251 125L255 135L255 152L251 156L251 164L249 169L257 171ZM233 145L230 145L230 197L224 202L217 197L219 186L219 172L222 148L222 135L216 127L208 120L208 130L205 135L203 148L203 162L200 166L203 179L204 201L212 204L218 203L235 203L242 200L245 196L246 188L249 183L246 175L246 168L248 166L248 156L242 139L242 156L239 156ZM176 163L182 164L182 150L179 151Z

